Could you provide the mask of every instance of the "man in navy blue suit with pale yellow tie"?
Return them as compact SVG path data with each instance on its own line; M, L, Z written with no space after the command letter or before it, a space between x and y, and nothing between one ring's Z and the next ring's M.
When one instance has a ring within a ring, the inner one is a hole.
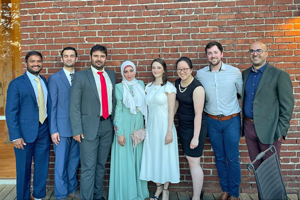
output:
M27 71L13 79L7 89L5 116L16 162L16 199L41 199L46 195L50 136L48 111L51 100L46 79L39 75L42 56L29 51ZM30 197L31 162L34 161L33 193Z

